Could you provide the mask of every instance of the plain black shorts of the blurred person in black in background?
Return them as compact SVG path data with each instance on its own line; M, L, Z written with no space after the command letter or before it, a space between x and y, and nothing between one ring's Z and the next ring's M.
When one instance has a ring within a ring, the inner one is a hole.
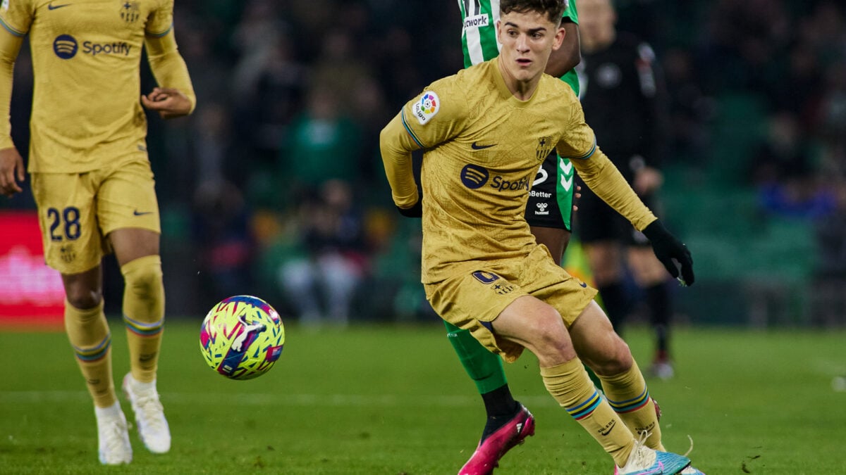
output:
M602 198L596 196L587 188L585 183L578 182L581 186L581 198L579 199L579 211L576 213L578 225L576 234L581 243L589 244L598 241L615 241L629 246L650 245L643 232L634 229L634 226L621 216L611 206L608 206ZM646 206L657 214L655 205L657 199L654 195L640 196Z

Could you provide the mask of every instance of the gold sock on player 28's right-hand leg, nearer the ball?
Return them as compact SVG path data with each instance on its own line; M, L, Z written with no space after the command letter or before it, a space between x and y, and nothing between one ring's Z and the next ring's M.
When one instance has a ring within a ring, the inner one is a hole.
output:
M136 381L156 379L164 330L162 259L148 255L120 268L124 275L124 323L129 367Z

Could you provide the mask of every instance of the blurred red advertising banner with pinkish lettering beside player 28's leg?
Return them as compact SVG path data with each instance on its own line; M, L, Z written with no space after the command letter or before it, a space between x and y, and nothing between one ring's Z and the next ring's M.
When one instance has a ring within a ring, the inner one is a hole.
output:
M0 328L63 325L64 288L44 264L35 211L0 211Z

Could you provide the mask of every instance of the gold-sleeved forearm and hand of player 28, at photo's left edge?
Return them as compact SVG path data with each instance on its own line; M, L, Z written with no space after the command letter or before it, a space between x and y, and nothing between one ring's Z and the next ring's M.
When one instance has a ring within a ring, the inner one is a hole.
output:
M8 197L22 191L18 183L25 179L24 159L14 146L9 122L14 62L23 42L23 35L0 28L0 193Z

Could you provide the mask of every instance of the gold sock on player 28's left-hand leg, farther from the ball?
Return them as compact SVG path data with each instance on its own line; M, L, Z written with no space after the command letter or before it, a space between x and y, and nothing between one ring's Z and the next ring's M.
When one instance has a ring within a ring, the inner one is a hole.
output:
M118 401L112 379L112 334L102 301L94 308L83 310L65 300L64 328L94 405L112 406Z

